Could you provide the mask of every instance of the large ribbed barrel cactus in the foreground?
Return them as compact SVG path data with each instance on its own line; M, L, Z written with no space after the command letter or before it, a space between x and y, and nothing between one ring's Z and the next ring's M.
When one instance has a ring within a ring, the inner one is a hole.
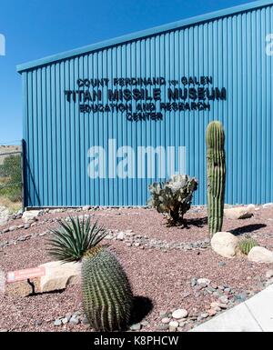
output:
M126 329L133 305L131 287L116 256L103 246L84 255L82 294L91 327L107 332Z

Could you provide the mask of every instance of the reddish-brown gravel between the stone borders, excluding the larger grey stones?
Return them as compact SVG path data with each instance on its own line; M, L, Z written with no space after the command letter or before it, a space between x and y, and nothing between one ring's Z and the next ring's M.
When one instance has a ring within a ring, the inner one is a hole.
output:
M83 215L87 212L74 213ZM194 207L187 214L187 228L167 227L162 215L149 209L111 209L91 211L94 220L112 231L132 230L147 239L167 243L195 243L207 238L207 215L202 207ZM48 222L67 213L50 213L39 217L39 221L28 229L16 228L0 235L0 244L15 240L23 235L43 234L56 223ZM45 222L46 221L46 222ZM6 228L23 225L21 219L2 226ZM251 235L260 245L273 247L273 208L259 207L255 215L247 220L225 220L223 230L236 235ZM249 263L246 258L225 259L216 255L210 247L189 251L162 250L143 246L127 246L125 241L111 240L111 249L125 266L136 295L136 310L132 323L147 321L144 331L156 331L162 326L163 315L169 315L178 308L186 309L189 322L181 327L187 331L193 325L207 319L207 310L219 295L207 291L203 286L193 284L194 278L207 278L217 289L223 286L231 290L225 293L230 302L227 307L237 304L238 295L249 297L263 289L266 273L272 265ZM6 272L35 267L50 261L45 252L45 236L34 236L0 248L0 268ZM27 296L28 285L19 283L7 285L5 295L0 294L0 330L7 331L90 331L83 322L80 325L54 325L58 318L68 313L82 311L80 285L68 286L65 292ZM208 293L209 292L209 293ZM224 292L223 292L224 293ZM236 301L236 300L237 301ZM241 300L242 301L242 300ZM145 305L145 307L140 307ZM139 314L139 315L138 315ZM202 318L200 315L204 315Z

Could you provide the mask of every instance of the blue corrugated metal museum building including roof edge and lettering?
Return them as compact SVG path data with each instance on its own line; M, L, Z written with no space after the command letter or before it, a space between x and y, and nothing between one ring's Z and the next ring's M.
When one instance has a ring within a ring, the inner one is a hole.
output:
M273 202L272 33L258 1L19 65L25 206L146 205L184 160L205 204L210 120L226 131L226 203Z

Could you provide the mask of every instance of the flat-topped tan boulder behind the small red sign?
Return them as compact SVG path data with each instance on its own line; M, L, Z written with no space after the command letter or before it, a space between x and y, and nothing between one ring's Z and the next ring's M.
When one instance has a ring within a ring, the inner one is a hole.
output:
M67 285L80 283L81 263L63 264L55 261L40 267L45 267L45 276L40 279L41 293L66 289Z

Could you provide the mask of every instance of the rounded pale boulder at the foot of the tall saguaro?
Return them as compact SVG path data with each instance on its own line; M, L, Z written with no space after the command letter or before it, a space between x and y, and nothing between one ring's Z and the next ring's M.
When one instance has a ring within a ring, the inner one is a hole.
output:
M217 232L211 238L212 249L221 256L233 258L236 255L238 238L229 232Z

